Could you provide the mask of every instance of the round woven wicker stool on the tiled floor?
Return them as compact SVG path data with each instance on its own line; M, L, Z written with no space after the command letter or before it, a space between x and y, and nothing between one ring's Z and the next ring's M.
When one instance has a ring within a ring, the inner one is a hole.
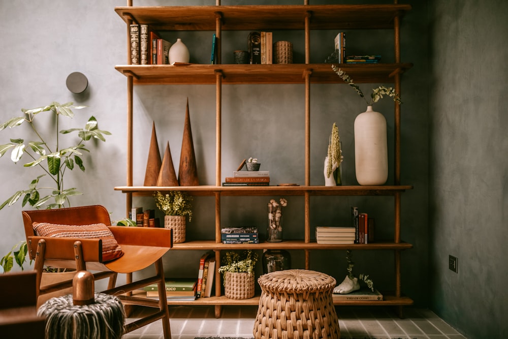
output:
M340 338L332 301L335 279L304 269L274 271L260 276L256 339Z

